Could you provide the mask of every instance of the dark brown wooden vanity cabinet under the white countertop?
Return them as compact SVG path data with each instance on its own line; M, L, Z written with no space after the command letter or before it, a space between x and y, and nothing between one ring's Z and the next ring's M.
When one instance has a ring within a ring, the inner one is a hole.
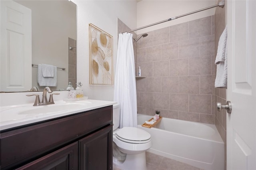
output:
M2 130L1 170L111 170L112 106Z

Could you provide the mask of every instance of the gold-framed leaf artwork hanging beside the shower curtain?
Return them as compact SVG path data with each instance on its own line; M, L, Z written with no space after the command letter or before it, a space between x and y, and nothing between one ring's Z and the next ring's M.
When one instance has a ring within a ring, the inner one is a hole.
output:
M90 84L113 84L113 37L89 24Z

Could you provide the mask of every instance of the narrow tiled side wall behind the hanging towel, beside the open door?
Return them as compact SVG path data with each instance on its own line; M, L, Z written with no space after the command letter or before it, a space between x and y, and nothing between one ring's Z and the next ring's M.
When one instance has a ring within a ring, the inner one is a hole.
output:
M219 1L220 2L220 1ZM219 3L218 2L218 3ZM225 2L226 4L226 2ZM220 35L226 27L226 6L224 8L216 8L214 15L215 24L215 56L217 54L218 42ZM216 67L215 67L216 68ZM215 73L216 75L216 73ZM222 105L226 103L226 89L215 88L215 101L221 102ZM217 111L215 103L215 125L225 143L225 162L226 162L226 110L223 109L221 112Z

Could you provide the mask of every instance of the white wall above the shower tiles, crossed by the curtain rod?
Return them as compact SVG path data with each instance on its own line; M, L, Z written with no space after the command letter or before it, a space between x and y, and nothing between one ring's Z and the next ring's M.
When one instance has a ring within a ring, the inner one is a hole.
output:
M147 26L215 4L217 4L216 0L142 0L137 3L137 27L140 28L142 26ZM206 16L212 16L214 15L216 8L138 30L137 34L158 30L160 28L196 20ZM131 29L135 28L132 27Z

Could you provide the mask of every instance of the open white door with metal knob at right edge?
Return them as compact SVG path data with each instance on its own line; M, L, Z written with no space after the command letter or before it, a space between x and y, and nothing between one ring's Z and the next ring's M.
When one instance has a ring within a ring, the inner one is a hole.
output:
M256 1L227 3L227 169L256 170Z

